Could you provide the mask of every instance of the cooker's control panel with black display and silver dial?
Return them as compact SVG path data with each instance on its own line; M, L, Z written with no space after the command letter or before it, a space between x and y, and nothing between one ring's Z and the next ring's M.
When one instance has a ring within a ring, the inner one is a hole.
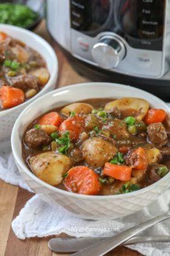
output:
M101 68L162 76L166 0L70 0L72 54Z

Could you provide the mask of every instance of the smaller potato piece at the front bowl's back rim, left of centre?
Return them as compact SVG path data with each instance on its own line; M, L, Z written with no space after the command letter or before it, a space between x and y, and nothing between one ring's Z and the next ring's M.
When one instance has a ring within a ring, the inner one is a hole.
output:
M69 116L71 112L74 112L75 114L89 114L92 110L93 106L91 106L90 104L76 102L64 107L61 110L61 113Z

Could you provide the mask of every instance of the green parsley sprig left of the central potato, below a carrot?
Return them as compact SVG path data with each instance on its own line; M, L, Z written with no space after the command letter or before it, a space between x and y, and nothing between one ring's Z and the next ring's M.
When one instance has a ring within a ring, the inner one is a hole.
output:
M59 153L67 154L67 150L71 146L71 139L69 137L69 131L65 131L65 133L64 133L64 135L62 135L62 137L56 138L55 142L57 142L57 144L61 145L61 147L59 147Z

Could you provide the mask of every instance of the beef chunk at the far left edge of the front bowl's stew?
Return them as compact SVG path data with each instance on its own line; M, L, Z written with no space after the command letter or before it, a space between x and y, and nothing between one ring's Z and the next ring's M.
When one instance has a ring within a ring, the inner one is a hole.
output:
M50 141L50 137L42 129L33 128L25 133L25 144L31 149L47 145Z

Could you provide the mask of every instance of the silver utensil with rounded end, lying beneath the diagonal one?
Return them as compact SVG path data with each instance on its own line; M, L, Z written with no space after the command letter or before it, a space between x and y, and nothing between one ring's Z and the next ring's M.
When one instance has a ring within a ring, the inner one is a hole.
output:
M51 238L48 247L58 253L78 252L86 247L105 240L106 237L93 238ZM170 236L134 236L122 243L122 245L132 245L134 243L170 243Z

